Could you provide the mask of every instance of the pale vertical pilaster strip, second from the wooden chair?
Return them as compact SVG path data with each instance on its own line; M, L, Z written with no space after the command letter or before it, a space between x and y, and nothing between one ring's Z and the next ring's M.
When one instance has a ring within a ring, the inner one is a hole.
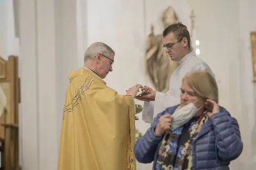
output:
M57 82L55 4L36 1L37 89L38 89L38 170L54 170L58 164Z

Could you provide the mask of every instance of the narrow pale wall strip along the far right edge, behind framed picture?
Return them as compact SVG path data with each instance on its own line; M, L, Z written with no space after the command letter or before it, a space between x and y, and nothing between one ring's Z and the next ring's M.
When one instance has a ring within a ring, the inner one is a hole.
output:
M256 83L252 82L253 68L250 43L250 31L256 31L254 6L256 6L256 1L239 1L240 94L243 104L239 121L243 122L241 129L243 129L245 150L242 161L248 164L247 169L255 169L256 166Z

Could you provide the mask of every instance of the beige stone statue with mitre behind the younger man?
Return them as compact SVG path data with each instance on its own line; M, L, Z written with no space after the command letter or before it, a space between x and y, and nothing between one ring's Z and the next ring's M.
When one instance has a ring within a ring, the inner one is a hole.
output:
M177 15L172 7L164 10L162 17L164 28L178 22ZM172 61L163 49L163 36L154 35L154 26L148 35L146 52L147 71L157 91L165 93L169 89L170 77L177 68L177 63Z

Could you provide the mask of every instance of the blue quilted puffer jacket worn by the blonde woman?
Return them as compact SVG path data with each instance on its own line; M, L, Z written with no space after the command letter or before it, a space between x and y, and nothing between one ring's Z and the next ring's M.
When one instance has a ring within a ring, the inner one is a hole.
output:
M156 164L162 137L154 132L159 118L164 114L173 114L179 105L168 107L154 118L151 127L145 135L138 139L134 146L135 157L138 162ZM243 143L237 120L230 113L220 108L204 123L193 141L192 162L193 170L226 170L231 160L239 157L243 150Z

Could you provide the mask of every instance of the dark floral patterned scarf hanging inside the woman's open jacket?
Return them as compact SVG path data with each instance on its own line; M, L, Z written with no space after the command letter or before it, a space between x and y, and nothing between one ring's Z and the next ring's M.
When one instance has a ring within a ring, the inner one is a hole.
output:
M191 120L188 131L181 137L184 126L166 132L159 148L155 170L183 170L192 167L192 143L196 134L208 120L207 114Z

